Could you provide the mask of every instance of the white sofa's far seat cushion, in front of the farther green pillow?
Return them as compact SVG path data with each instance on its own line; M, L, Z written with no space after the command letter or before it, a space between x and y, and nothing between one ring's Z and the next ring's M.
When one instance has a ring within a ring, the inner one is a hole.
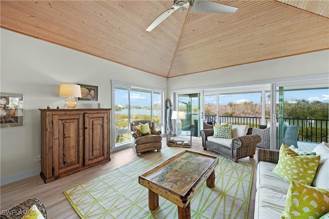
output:
M282 194L287 194L290 182L272 172L276 165L276 163L265 161L260 161L258 163L256 181L257 190L260 188L268 188Z

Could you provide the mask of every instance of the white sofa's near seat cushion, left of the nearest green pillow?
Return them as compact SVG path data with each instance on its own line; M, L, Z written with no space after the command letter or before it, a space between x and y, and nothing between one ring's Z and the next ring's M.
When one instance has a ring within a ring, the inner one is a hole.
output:
M268 188L260 188L256 192L253 218L281 218L285 206L286 194Z

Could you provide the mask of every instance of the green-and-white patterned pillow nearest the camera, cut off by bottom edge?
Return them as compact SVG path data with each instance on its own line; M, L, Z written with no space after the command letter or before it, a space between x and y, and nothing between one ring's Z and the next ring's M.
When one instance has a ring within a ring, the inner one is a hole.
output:
M329 211L329 197L315 187L292 181L281 218L319 218Z

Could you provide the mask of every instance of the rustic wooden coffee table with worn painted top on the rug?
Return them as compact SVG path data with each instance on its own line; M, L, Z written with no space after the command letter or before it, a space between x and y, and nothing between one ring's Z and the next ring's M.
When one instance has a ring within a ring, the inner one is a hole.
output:
M218 157L184 151L139 176L149 189L149 208L159 206L159 195L177 205L178 218L191 218L190 201L207 180L215 187Z

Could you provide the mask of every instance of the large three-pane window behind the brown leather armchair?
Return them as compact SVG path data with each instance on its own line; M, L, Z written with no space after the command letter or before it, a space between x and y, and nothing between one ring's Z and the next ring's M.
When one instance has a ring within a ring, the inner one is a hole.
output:
M139 119L152 120L157 130L162 130L163 90L137 87L124 82L113 81L114 87L114 146L131 144L130 122Z

